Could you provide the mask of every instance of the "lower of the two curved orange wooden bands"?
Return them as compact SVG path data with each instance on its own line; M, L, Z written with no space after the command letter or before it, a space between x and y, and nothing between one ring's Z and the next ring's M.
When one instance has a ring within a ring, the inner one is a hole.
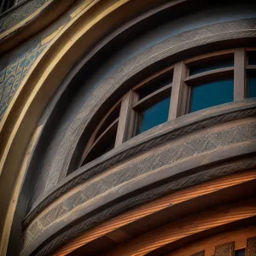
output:
M145 255L185 237L197 236L201 232L217 229L226 224L233 224L239 220L252 217L256 217L256 201L254 199L243 203L236 202L225 207L218 207L213 211L201 212L166 224L160 229L150 231L122 244L106 255ZM218 255L221 256L221 254ZM231 256L232 254L223 255Z

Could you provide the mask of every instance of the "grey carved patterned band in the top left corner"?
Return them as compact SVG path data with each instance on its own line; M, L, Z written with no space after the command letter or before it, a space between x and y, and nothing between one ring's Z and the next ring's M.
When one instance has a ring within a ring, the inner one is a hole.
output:
M17 25L20 21L25 20L47 2L49 2L49 0L27 1L14 11L9 12L7 15L3 15L0 17L0 33L5 32L9 28Z

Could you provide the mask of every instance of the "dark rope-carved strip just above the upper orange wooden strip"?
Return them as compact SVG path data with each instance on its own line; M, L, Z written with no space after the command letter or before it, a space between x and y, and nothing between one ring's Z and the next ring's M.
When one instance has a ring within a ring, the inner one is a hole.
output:
M70 241L76 236L83 234L84 231L90 230L92 227L96 226L97 224L101 224L103 221L106 221L109 218L113 218L114 216L124 211L128 211L132 207L137 207L142 203L152 201L156 198L159 198L162 195L166 195L168 192L170 193L170 191L175 191L177 189L184 189L189 186L195 185L197 183L207 182L212 178L222 177L224 175L234 173L234 171L239 172L242 170L253 168L255 166L256 166L255 158L240 160L240 161L233 162L231 164L226 164L224 166L218 166L217 168L206 170L205 172L196 173L189 177L180 178L175 182L166 183L156 189L151 189L140 195L131 197L125 201L122 201L114 205L113 207L109 207L102 212L96 213L96 215L90 218L87 218L86 220L80 222L79 224L73 225L71 229L61 232L60 236L56 236L52 241L49 241L48 244L45 245L36 254L36 256L49 255L50 253L53 253L55 249L57 249L58 247L61 247L62 245L66 244L67 241Z

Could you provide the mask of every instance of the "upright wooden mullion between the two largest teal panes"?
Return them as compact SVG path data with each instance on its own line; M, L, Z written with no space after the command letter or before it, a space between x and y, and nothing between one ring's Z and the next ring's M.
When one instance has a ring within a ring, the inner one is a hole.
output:
M177 62L173 70L172 96L168 120L175 119L185 113L188 90L187 86L183 84L183 79L186 74L187 67L184 61Z

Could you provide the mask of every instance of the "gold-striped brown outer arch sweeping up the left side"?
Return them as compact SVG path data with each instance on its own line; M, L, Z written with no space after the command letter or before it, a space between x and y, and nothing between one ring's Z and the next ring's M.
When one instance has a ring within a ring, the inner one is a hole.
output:
M183 1L173 2L173 4ZM1 192L1 195L4 195L1 209L3 215L8 215L3 227L4 237L9 237L16 202L26 175L26 166L42 127L39 125L33 137L32 131L37 127L41 113L61 80L84 54L84 51L90 49L105 32L113 29L117 23L127 20L128 13L135 15L143 7L161 2L161 0L150 0L140 4L133 0L85 2L74 11L73 19L56 35L55 40L34 63L1 121L1 138L3 138L0 163L1 190L5 191ZM101 32L98 30L99 26ZM26 157L23 158L23 155ZM21 160L23 161L20 167ZM5 186L2 184L3 180L5 180ZM13 201L14 204L8 208L9 201ZM8 239L1 241L1 252L4 252L7 249Z

